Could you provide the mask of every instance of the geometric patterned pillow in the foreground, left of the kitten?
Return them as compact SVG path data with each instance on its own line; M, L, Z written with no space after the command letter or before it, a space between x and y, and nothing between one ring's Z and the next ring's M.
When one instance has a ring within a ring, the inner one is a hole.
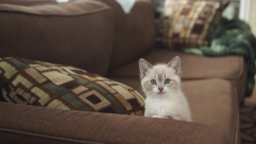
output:
M0 58L0 90L5 102L143 116L144 99L138 92L72 66Z

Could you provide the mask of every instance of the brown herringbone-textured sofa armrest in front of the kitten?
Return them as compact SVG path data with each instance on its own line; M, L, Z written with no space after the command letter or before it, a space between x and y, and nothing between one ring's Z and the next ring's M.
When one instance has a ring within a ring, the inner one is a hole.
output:
M193 122L6 102L0 114L2 143L229 143L218 128Z

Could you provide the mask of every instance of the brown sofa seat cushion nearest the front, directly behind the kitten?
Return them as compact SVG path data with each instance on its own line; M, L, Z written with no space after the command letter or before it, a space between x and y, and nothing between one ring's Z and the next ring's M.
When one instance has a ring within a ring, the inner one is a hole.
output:
M111 77L143 94L139 78ZM230 144L238 141L238 94L228 80L183 80L182 90L190 105L192 122L220 129Z

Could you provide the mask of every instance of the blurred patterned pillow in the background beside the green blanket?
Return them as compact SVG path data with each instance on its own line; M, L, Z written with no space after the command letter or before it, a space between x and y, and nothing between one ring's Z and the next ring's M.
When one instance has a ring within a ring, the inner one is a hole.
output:
M166 0L156 44L171 50L207 46L228 2Z

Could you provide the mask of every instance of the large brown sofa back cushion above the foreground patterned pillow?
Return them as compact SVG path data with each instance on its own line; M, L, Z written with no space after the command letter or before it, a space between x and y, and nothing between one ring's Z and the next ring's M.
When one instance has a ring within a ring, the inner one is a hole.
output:
M67 64L106 75L114 31L108 5L93 0L0 4L0 19L0 57Z

